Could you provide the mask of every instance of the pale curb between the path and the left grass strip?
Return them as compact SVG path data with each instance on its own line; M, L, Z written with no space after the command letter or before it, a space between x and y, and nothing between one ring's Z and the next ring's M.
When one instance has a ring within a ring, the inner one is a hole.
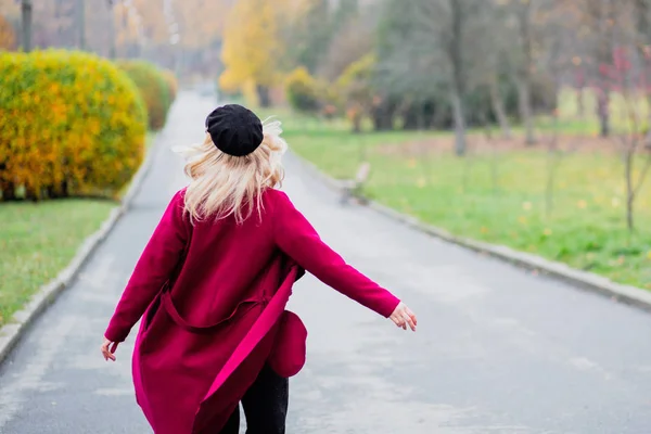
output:
M14 314L12 322L0 328L0 366L29 329L29 326L56 299L59 294L71 285L90 255L92 255L102 241L106 239L115 225L119 221L120 217L129 209L133 197L140 191L142 181L151 168L155 152L155 141L157 138L154 138L153 140L154 144L133 176L131 186L123 197L120 205L111 212L108 218L104 220L95 233L84 241L68 266L61 271L54 280L42 285L40 290L31 296L31 299L27 305Z

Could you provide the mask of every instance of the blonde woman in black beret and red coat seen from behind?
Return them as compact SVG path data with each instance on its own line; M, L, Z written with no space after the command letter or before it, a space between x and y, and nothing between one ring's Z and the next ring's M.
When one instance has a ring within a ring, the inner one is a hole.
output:
M136 398L156 434L284 433L288 378L307 332L284 310L304 270L398 327L416 316L348 266L275 189L286 143L235 104L206 119L187 151L187 189L169 203L111 319L106 360L140 320Z

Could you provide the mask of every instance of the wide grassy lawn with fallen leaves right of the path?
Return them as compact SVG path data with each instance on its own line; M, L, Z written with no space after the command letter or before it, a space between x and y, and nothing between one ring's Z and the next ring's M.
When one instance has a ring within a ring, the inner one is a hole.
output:
M366 193L385 205L461 237L651 289L651 179L637 202L638 231L629 237L623 165L612 150L564 156L548 212L544 144L494 152L480 150L481 139L471 136L470 155L459 158L449 152L449 133L353 135L342 122L280 117L292 150L333 177L352 177L366 155L372 166Z

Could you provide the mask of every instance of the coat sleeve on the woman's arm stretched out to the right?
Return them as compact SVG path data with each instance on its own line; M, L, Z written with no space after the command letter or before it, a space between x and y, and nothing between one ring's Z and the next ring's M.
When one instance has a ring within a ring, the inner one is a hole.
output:
M280 250L317 279L375 312L390 317L400 302L346 264L280 191L273 209L273 238Z

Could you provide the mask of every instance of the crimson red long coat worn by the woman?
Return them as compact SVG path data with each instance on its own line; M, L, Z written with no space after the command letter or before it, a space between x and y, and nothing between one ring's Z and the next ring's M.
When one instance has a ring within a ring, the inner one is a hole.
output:
M286 194L267 190L261 218L191 225L177 193L140 257L105 336L133 352L136 397L156 434L219 432L265 363L290 376L306 331L284 310L311 272L388 317L399 303L326 245Z

